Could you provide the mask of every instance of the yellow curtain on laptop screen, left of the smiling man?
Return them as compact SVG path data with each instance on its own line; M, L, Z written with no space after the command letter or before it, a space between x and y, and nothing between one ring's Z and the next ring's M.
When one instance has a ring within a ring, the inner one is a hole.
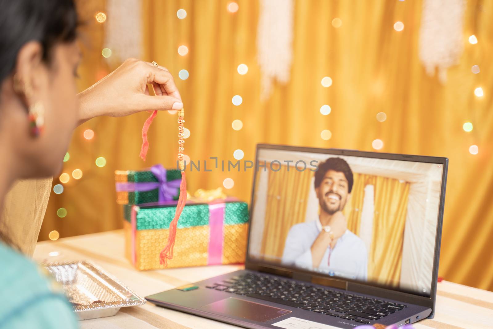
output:
M267 203L264 236L260 253L266 259L280 259L289 229L305 221L310 181L314 172L298 171L292 166L267 165ZM268 233L267 233L268 232Z

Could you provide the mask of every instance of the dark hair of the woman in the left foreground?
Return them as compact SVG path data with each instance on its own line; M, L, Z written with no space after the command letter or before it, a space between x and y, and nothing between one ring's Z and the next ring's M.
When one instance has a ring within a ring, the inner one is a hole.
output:
M49 63L53 47L75 40L76 28L73 0L0 0L0 82L14 70L24 44L39 41Z

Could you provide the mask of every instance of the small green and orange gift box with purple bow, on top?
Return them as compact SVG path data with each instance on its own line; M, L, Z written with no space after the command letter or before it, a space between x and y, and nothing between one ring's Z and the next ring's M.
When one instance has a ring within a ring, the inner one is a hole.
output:
M115 171L116 202L142 203L178 200L181 172L158 164L140 171Z

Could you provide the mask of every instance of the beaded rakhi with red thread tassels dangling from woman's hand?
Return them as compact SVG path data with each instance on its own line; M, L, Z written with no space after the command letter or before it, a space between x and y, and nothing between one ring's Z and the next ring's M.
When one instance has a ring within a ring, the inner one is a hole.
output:
M154 117L156 117L157 111L153 111L152 114L145 120L144 126L142 127L142 146L141 146L141 158L145 161L147 151L149 149L149 142L147 141L147 131L152 123ZM185 180L185 160L183 159L183 152L185 148L183 144L185 141L183 140L183 123L185 123L185 110L178 110L178 166L181 171L181 183L180 183L180 195L178 197L178 203L176 204L175 217L170 223L168 241L166 246L159 254L159 262L164 265L164 267L168 266L168 259L173 258L173 247L175 246L176 239L176 226L178 224L178 219L180 218L181 212L185 207L186 203L186 180Z

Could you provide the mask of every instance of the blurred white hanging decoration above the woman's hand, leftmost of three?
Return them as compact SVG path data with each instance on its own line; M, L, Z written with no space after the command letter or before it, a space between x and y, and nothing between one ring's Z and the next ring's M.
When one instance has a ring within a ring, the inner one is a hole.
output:
M141 57L141 0L106 0L105 44L111 61Z

